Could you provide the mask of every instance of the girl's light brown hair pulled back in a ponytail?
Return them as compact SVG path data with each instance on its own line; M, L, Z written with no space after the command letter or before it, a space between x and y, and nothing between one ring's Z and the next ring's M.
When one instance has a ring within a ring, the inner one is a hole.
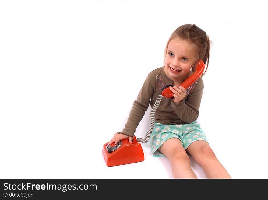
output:
M179 38L185 40L192 44L193 50L197 54L197 60L193 64L192 71L196 70L196 63L199 60L202 60L206 64L206 70L208 68L209 57L210 57L210 43L209 36L206 35L206 32L200 29L195 24L185 24L178 27L169 37L168 43L165 48L164 59L168 51L168 44L170 40L174 38ZM202 76L206 73L206 70L203 72Z

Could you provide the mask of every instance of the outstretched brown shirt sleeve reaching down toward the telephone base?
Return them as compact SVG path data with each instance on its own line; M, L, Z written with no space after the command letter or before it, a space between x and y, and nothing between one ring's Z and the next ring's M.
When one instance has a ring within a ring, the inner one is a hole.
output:
M150 77L148 75L143 83L137 99L132 104L129 117L125 124L125 128L122 130L122 133L129 136L134 135L139 122L142 120L145 111L148 109L153 92L154 87L153 84L151 84Z

